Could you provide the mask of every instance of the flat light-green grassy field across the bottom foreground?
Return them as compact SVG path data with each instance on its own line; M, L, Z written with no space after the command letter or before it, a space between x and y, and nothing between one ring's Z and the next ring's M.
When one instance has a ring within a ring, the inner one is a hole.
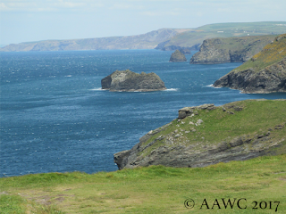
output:
M2 214L285 213L286 154L196 169L151 166L3 177L0 193ZM185 207L192 206L184 204L187 199L195 202L193 208ZM225 209L222 199L235 200L232 209L230 204Z

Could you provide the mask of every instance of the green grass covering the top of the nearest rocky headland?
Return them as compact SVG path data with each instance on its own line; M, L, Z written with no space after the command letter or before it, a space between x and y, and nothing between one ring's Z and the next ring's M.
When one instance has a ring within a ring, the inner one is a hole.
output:
M237 107L242 107L242 111L233 111L234 114L230 114L227 111L222 111L221 108L217 108L213 111L198 110L198 115L190 118L187 117L181 121L175 119L172 121L172 125L166 128L164 131L152 136L144 144L149 144L158 136L166 136L176 129L178 133L180 130L189 131L193 128L196 132L190 131L185 134L180 139L180 142L187 142L186 144L198 144L198 147L202 147L202 144L219 144L222 141L230 142L236 136L250 136L254 137L256 135L265 135L269 128L272 128L271 136L273 140L282 139L285 137L285 128L275 129L274 127L279 124L286 122L286 101L256 101L256 100L246 100L236 103L229 103L226 106L235 105ZM202 125L196 127L195 125L189 125L192 121L196 123L198 119L202 119L204 122ZM204 139L202 139L204 137ZM156 144L148 147L147 150L143 151L141 154L147 155L149 152L153 151L157 147L164 144L164 140L161 142L157 141ZM172 146L172 145L170 145ZM284 146L284 151L286 153L286 146Z

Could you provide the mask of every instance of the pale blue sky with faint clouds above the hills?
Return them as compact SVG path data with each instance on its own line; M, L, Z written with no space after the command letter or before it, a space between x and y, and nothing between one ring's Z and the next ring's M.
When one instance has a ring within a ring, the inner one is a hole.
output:
M286 21L285 0L0 0L0 45Z

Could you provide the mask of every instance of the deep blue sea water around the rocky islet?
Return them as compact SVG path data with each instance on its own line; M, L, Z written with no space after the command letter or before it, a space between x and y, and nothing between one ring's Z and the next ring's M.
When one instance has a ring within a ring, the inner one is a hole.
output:
M0 177L113 171L115 152L175 119L185 106L221 105L286 94L245 95L210 85L240 63L169 62L156 50L0 53ZM191 55L187 55L189 61ZM165 91L109 92L114 70L155 72Z

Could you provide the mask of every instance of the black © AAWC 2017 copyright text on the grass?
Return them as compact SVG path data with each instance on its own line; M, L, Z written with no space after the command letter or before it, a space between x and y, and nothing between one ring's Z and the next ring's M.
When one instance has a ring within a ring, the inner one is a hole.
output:
M195 207L195 201L193 199L187 199L184 205L188 209L193 209ZM198 202L199 210L222 210L222 209L239 209L239 210L274 210L278 211L280 202L273 201L249 201L246 198L220 198L214 200L204 199Z

